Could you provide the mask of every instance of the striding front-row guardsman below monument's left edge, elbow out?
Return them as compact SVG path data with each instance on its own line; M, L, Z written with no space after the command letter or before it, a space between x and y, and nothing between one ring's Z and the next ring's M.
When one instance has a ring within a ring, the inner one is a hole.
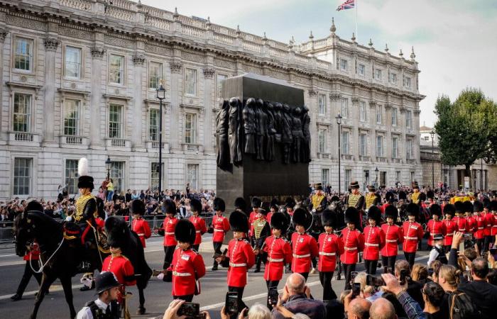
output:
M229 241L226 255L217 257L222 267L228 268L228 291L238 293L238 311L247 308L244 301L244 289L247 284L247 271L251 269L256 262L256 256L253 254L252 246L247 240L249 232L249 218L245 213L234 211L229 216L229 225L233 230L233 239Z

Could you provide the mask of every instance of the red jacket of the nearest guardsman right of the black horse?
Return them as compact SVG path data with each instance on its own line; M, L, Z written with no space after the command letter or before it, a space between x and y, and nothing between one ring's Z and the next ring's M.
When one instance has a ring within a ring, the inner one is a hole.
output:
M173 296L187 296L195 293L196 281L205 275L205 264L202 255L191 250L176 248L173 254L173 262L169 267L173 272ZM200 293L197 291L197 294Z

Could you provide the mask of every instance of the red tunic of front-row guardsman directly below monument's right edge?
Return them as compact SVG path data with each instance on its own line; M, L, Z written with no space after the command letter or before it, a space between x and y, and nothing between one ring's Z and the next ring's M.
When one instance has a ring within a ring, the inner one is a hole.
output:
M292 234L292 272L303 274L310 271L311 259L317 257L317 242L314 237L304 233Z

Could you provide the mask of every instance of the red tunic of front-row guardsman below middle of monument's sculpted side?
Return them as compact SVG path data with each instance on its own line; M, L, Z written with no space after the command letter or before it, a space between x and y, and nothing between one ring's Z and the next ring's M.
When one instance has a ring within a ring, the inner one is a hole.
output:
M283 277L283 267L292 262L292 247L284 237L269 236L263 250L268 253L264 269L264 280L279 281Z

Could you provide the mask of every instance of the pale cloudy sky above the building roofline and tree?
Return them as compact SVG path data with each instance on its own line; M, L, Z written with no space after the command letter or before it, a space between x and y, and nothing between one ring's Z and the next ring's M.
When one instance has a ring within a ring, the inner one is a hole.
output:
M210 17L212 23L288 43L329 35L332 17L337 35L349 40L355 32L354 9L336 11L345 0L142 0L142 4L185 16ZM496 0L356 0L358 39L369 38L377 50L385 45L404 57L414 47L420 69L420 125L432 126L437 97L451 100L468 87L497 101Z

